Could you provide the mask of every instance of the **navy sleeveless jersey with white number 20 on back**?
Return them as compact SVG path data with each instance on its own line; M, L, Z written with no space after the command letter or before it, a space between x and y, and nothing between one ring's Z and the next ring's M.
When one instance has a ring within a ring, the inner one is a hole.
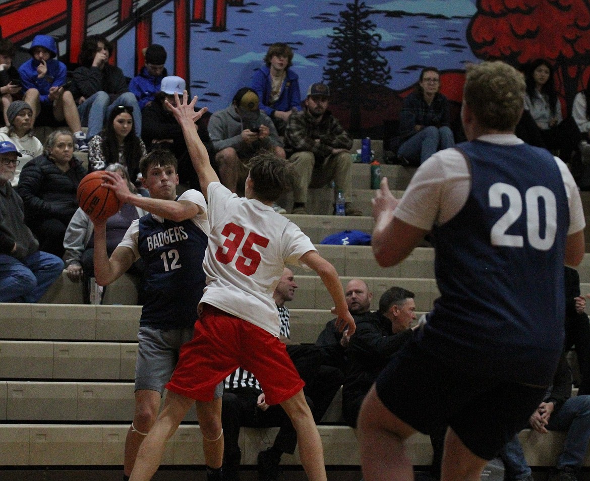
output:
M435 227L441 297L421 343L457 368L549 385L563 348L563 259L569 208L544 149L480 140L458 145L471 189Z

